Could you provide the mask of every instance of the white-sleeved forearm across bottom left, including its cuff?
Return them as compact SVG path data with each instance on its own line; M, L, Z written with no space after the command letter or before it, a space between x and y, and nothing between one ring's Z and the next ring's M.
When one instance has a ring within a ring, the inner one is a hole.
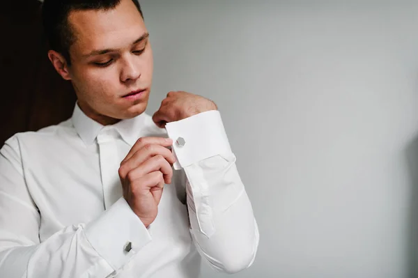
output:
M40 243L22 242L2 227L0 276L104 278L116 274L150 242L148 231L136 218L120 199L93 222L68 226ZM124 249L128 241L130 252Z

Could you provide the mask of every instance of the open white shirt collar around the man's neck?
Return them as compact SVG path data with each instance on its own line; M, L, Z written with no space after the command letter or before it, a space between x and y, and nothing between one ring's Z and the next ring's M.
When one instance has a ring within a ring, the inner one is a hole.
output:
M92 118L88 118L78 104L75 105L74 111L72 112L72 125L74 125L76 132L86 145L93 144L102 129L115 128L118 134L121 135L123 141L133 146L139 138L144 124L144 113L134 118L119 121L114 125L104 126Z

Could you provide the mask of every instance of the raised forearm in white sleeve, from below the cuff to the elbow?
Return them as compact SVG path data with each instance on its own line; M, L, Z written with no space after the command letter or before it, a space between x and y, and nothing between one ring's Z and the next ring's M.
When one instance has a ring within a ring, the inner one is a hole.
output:
M258 227L234 160L210 157L199 167L217 164L221 171L202 172L187 167L187 206L192 236L199 253L215 269L238 272L254 261ZM195 167L198 167L197 165ZM208 169L208 167L206 167Z

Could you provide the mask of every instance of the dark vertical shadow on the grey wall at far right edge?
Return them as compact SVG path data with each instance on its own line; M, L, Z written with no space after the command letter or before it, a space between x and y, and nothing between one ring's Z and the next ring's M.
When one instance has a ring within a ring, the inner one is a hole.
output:
M406 148L411 181L410 211L408 212L407 247L408 278L418 277L418 135Z

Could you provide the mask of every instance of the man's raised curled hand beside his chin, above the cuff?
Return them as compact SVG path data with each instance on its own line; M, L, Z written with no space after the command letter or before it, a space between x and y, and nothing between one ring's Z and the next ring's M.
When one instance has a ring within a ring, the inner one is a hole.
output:
M166 123L180 121L210 110L217 110L212 100L183 91L170 92L161 102L160 109L155 112L153 121L160 128L164 128Z

